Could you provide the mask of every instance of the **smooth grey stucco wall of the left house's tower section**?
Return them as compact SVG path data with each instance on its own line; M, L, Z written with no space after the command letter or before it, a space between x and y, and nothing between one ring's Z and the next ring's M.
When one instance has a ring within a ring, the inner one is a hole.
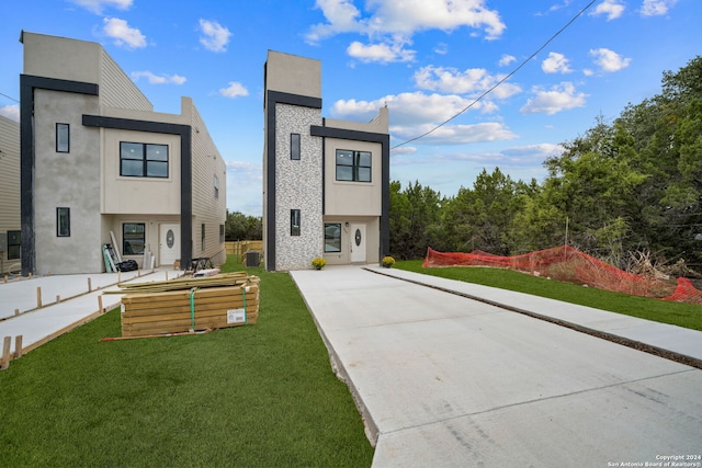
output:
M101 271L100 130L82 126L95 96L35 90L34 238L36 274ZM56 152L56 123L69 124L69 152ZM70 208L70 236L57 237L56 208Z

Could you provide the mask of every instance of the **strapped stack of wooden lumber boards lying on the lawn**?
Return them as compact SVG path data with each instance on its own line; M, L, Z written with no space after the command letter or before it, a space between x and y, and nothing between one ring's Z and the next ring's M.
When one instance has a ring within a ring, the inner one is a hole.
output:
M184 333L257 322L259 282L236 286L191 287L122 297L122 335Z

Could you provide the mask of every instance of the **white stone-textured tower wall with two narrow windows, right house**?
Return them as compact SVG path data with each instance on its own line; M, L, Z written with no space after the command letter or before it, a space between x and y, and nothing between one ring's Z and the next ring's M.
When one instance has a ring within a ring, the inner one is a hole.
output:
M321 138L309 135L321 124L317 109L278 104L275 109L275 251L276 270L309 267L322 255ZM301 135L301 158L290 158L290 135ZM290 212L301 210L301 233L291 236Z

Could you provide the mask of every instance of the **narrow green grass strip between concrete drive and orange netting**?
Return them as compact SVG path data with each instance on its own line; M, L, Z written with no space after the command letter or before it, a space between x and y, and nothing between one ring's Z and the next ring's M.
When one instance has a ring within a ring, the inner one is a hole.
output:
M421 264L421 260L400 261L395 263L395 267L466 283L528 293L534 296L548 297L657 322L702 330L702 306L693 304L671 303L611 293L510 270L460 266L422 269Z

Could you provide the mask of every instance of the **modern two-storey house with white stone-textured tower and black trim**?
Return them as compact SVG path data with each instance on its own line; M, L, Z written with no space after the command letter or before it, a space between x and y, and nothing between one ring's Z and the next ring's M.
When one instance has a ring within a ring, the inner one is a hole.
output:
M264 66L265 269L377 263L389 251L387 109L369 123L321 116L321 64L269 50Z

